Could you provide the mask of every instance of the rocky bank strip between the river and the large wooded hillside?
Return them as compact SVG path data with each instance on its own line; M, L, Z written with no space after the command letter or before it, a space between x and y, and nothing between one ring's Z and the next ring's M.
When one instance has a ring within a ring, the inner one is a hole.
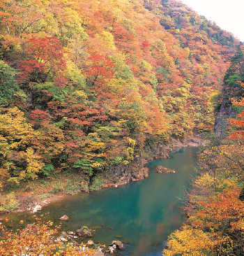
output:
M158 158L166 159L169 158L169 153L174 148L199 146L203 144L204 141L197 136L184 139L183 141L172 139L166 143L148 144L143 152L144 158L135 159L135 161L128 164L128 166L122 164L109 166L106 176L100 176L100 184L94 186L92 190L100 190L104 187L119 187L120 185L126 185L130 182L143 180L148 177L148 169L144 167L147 160ZM10 199L10 201L15 201L15 204L10 206L7 211L1 211L0 209L0 213L20 213L25 211L36 213L36 211L39 211L43 206L59 201L63 197L67 197L68 194L91 192L88 181L83 180L77 182L77 180L82 180L82 178L82 176L74 176L68 183L65 177L62 177L63 180L61 181L59 178L50 179L47 185L45 185L45 183L38 183L37 180L29 189L23 188L20 190L14 199ZM56 185L57 180L60 181L59 186ZM67 183L67 185L63 185L64 183ZM52 189L52 192L49 192L48 189Z

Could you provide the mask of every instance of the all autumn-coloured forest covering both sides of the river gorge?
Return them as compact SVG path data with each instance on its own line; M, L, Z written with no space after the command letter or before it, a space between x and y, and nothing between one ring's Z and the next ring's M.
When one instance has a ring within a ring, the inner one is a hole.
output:
M243 255L243 87L242 43L181 1L2 0L0 212L47 182L73 194L143 178L148 151L197 136L188 224L164 253Z

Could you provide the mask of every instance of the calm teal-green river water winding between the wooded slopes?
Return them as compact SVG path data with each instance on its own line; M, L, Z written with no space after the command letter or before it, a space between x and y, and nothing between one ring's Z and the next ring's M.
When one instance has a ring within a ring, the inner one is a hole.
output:
M44 207L38 215L49 213L47 220L56 224L62 215L68 215L70 220L62 225L65 231L93 227L96 234L92 240L96 243L127 241L125 250L117 255L162 255L167 236L184 221L181 199L190 188L191 176L195 176L197 150L195 147L174 150L170 159L148 162L149 177L142 181L69 196ZM177 173L156 173L157 165Z

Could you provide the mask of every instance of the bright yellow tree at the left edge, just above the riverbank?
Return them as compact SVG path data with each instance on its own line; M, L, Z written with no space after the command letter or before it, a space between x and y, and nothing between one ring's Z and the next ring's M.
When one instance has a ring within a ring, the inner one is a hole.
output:
M0 154L4 157L0 163L0 178L10 177L14 183L24 178L36 178L44 164L30 145L38 136L40 133L26 123L24 113L18 108L9 108L0 115Z

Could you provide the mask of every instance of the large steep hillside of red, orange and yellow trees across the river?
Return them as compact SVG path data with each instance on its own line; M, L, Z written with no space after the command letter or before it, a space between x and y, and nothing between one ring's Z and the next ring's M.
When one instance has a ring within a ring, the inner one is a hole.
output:
M212 131L240 43L174 0L3 0L0 17L4 184L95 176Z

